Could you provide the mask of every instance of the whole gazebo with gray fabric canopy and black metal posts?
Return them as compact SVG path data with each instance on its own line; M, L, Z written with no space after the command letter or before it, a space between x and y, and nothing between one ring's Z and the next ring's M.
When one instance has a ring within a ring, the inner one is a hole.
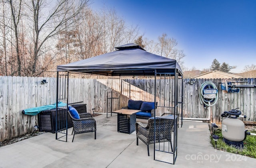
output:
M64 64L57 66L57 98L58 104L61 100L66 100L68 105L68 74L69 73L85 73L91 75L104 75L104 76L152 76L154 78L154 102L159 100L155 106L160 111L168 111L174 115L174 119L181 114L182 119L182 102L183 102L183 74L182 70L174 59L168 59L153 53L145 51L139 45L130 43L115 47L116 51L84 59L74 63ZM64 78L63 74L65 72ZM156 93L156 85L160 85L160 93ZM60 89L60 87L64 87ZM62 92L62 93L60 93ZM66 94L64 94L65 92ZM62 96L60 96L62 95ZM63 96L65 95L65 96ZM156 96L157 95L157 96ZM57 106L58 108L58 106ZM57 109L56 108L56 109ZM68 107L67 107L68 108ZM168 109L168 110L167 110ZM181 113L180 113L181 112ZM57 115L57 113L56 113ZM67 117L67 116L66 116ZM56 116L56 119L58 117ZM182 121L182 120L181 120ZM181 122L182 125L182 122ZM57 127L57 122L56 122ZM177 156L177 128L178 119L174 120L174 150L169 152L173 154L172 164L175 163ZM64 136L67 136L67 129ZM57 130L57 129L56 129ZM56 131L56 139L58 134ZM66 135L65 135L66 134ZM154 159L155 159L154 152ZM158 160L158 159L156 159ZM160 161L162 161L160 159ZM164 162L166 162L164 160ZM168 162L168 161L167 161Z

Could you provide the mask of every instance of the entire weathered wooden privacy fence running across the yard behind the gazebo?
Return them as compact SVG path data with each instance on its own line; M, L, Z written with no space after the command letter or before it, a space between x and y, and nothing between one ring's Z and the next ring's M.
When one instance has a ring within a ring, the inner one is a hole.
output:
M46 80L46 84L41 84ZM120 80L120 79L116 79ZM195 82L190 84L190 79L183 79L183 116L188 118L207 118L208 114L204 106L200 104L198 89L201 84L209 79L193 79ZM221 123L220 114L239 107L242 114L247 115L245 121L256 121L256 88L240 88L238 93L228 93L221 90L220 83L226 79L210 79L218 88L218 102L211 107L210 122ZM247 81L241 84L256 84L256 78L248 79L228 79L229 81ZM69 82L69 102L80 102L87 104L87 111L106 113L107 111L107 79L83 79L70 78ZM173 81L161 82L166 85L173 85ZM163 89L159 80L156 81L156 89L163 94L157 94L157 101L160 104L172 103L171 90ZM181 81L179 81L181 84ZM122 87L112 88L120 92L120 104L115 106L118 109L127 105L128 99L154 101L154 79L129 79L122 80ZM181 87L180 87L181 88ZM158 93L158 92L157 92ZM169 95L166 96L166 95ZM182 92L178 91L178 102L181 102ZM0 141L12 139L13 137L30 133L34 125L38 125L38 117L23 115L22 110L42 105L56 103L56 78L45 77L19 77L19 76L0 76ZM158 104L159 105L159 104ZM178 107L179 109L181 106ZM113 109L113 110L114 110ZM157 109L157 115L165 111ZM168 111L171 113L172 111Z

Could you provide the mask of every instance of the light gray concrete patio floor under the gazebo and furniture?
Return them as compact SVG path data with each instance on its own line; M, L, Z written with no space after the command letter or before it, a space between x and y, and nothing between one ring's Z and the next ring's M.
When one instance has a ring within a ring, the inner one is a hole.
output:
M117 132L117 116L95 117L97 139L94 133L76 135L72 143L72 128L68 142L55 140L55 134L36 137L0 148L0 168L254 168L256 159L215 150L209 143L208 123L184 121L178 128L178 156L174 165L154 160L154 145L147 147L136 133ZM146 122L146 120L138 120Z

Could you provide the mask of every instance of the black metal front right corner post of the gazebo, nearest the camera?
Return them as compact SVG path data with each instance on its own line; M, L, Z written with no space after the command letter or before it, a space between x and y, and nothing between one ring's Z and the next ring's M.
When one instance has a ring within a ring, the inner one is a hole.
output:
M156 95L159 96L158 110L160 115L168 115L168 116L161 116L158 118L163 119L172 119L173 122L173 135L172 130L170 130L171 143L168 142L154 142L154 160L166 162L170 164L175 164L177 158L177 135L178 135L178 89L179 89L179 74L180 71L175 68L174 72L157 72L155 73L155 102L156 102ZM156 82L157 77L159 77L159 84ZM170 80L172 79L172 80ZM169 81L169 82L168 82ZM159 88L157 88L159 86ZM158 91L156 90L158 89ZM170 92L171 94L166 94ZM161 96L163 94L163 96ZM156 108L155 108L156 109ZM164 121L168 122L168 121ZM156 137L156 111L154 113L154 138L160 139L160 137ZM156 145L159 143L159 145ZM173 145L173 148L172 148Z

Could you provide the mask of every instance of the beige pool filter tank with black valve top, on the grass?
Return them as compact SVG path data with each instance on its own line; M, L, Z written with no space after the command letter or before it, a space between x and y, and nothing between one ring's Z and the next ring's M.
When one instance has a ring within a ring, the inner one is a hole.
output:
M223 141L236 148L243 148L243 140L246 138L246 131L244 130L244 122L238 117L246 118L246 115L241 115L241 111L232 109L224 111L221 114L225 119L222 120L222 136Z

